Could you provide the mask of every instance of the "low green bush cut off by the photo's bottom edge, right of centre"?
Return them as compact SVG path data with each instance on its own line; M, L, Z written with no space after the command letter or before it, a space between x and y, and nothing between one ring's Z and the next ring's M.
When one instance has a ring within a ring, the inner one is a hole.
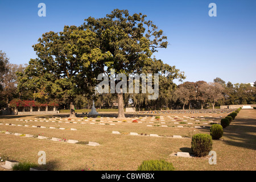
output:
M144 160L137 171L174 171L172 163L165 160Z

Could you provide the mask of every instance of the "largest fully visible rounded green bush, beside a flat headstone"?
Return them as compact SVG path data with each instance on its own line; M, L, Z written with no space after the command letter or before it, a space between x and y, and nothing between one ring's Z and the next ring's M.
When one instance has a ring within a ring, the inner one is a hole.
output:
M208 155L212 150L212 137L208 134L193 135L191 149L197 157Z

